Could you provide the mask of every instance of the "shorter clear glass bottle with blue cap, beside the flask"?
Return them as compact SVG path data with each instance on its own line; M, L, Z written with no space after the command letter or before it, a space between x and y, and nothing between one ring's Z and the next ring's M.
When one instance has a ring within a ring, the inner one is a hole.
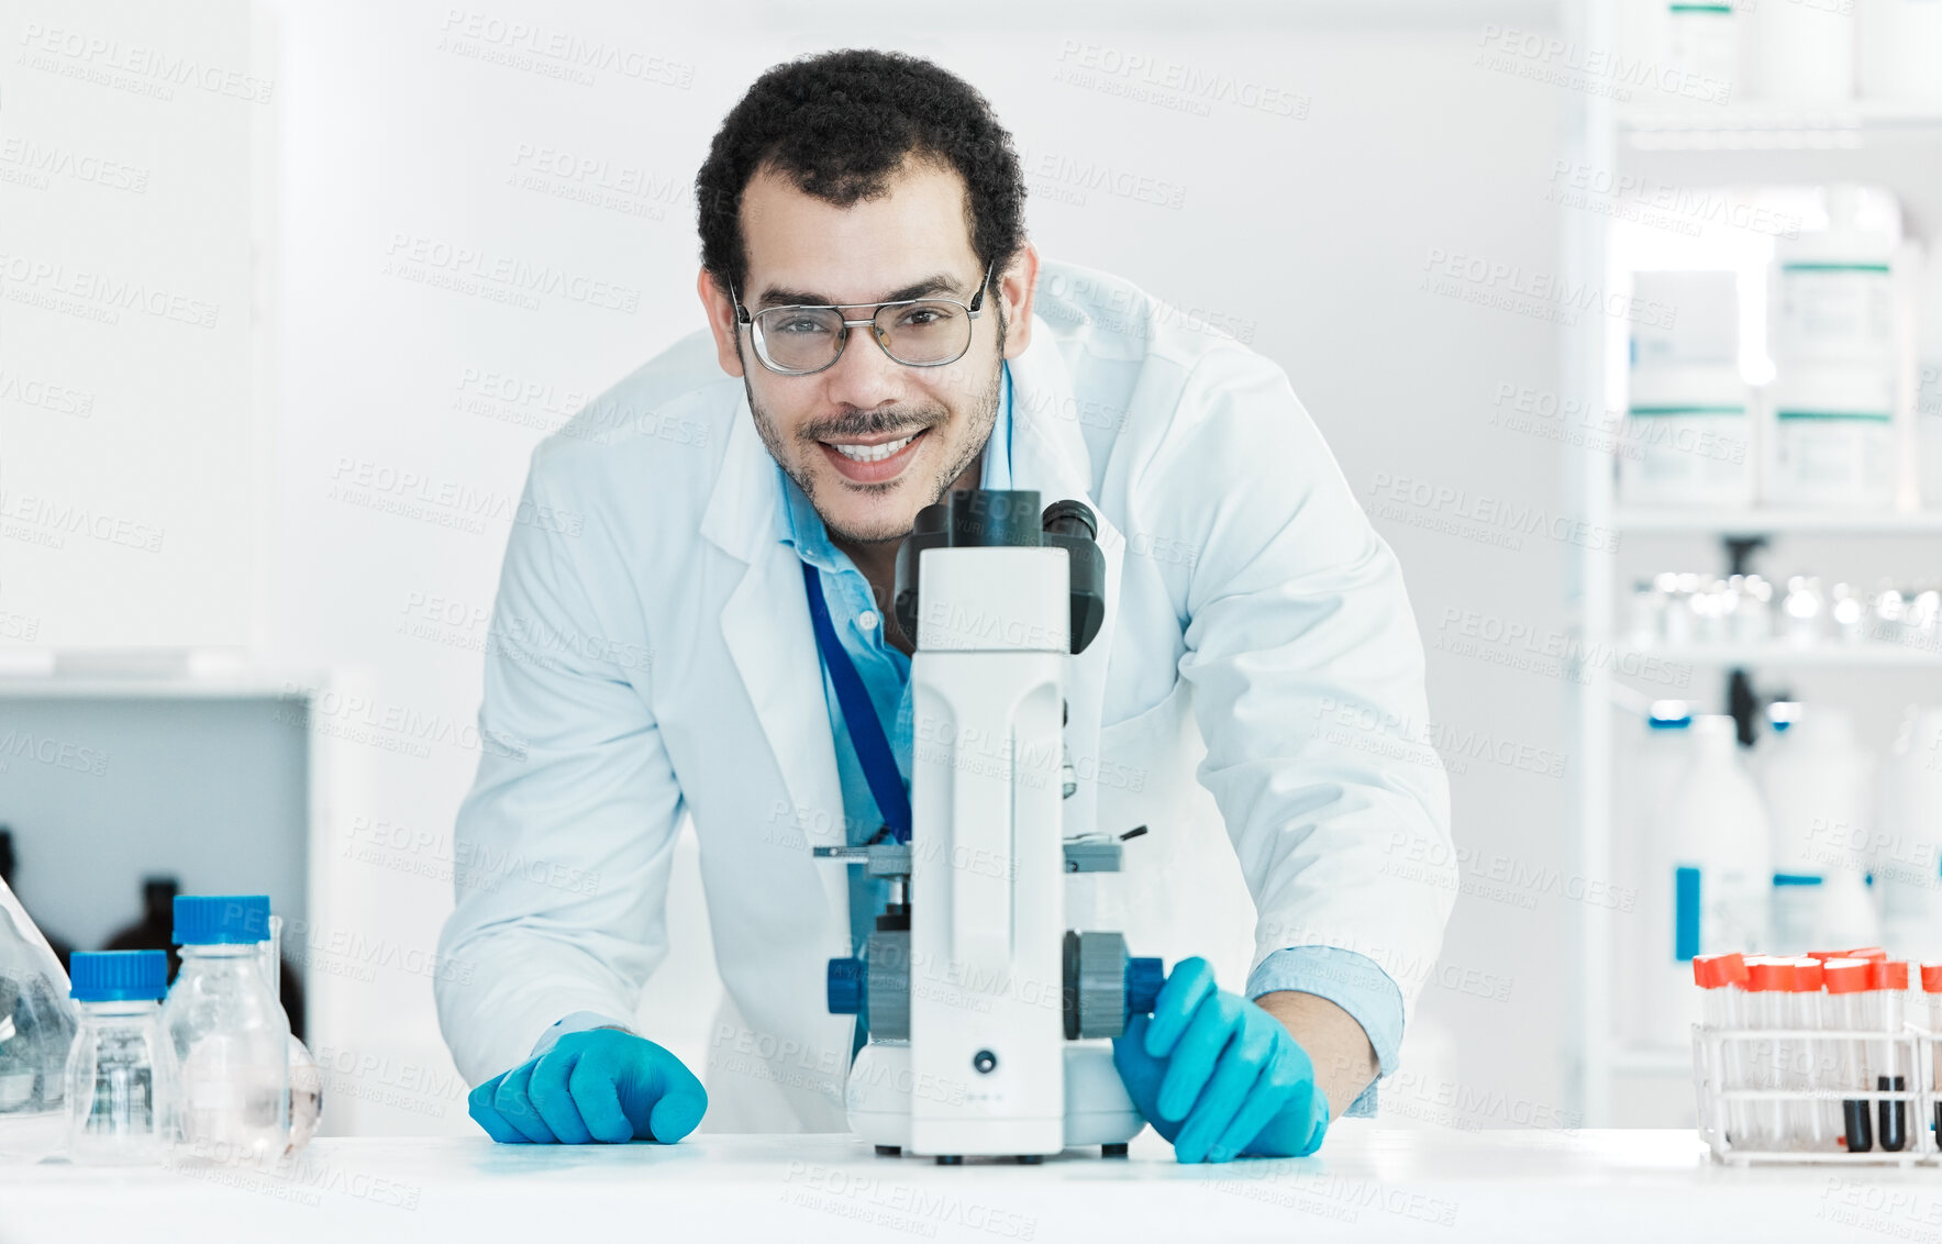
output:
M175 1050L161 1031L163 951L76 951L80 1032L68 1052L68 1155L159 1162L175 1126Z

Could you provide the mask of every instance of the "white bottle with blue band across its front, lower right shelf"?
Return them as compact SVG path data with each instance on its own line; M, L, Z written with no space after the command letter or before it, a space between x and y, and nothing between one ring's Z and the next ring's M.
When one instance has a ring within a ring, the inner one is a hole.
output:
M1866 883L1874 757L1841 708L1808 706L1773 724L1754 759L1773 833L1773 945L1783 955L1870 945L1880 937Z

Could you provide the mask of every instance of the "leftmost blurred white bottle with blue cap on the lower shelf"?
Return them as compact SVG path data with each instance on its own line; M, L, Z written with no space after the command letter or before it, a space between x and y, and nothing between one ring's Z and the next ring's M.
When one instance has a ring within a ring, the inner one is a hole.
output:
M1627 780L1614 784L1620 885L1637 893L1614 941L1625 992L1620 1036L1641 1044L1680 1044L1690 1023L1691 965L1676 957L1672 943L1676 842L1668 817L1672 784L1691 763L1690 728L1684 703L1653 704Z

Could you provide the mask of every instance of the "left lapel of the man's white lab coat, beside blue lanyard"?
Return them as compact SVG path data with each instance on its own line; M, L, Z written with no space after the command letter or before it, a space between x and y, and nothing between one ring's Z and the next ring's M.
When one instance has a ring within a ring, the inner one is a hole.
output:
M808 846L843 846L843 784L823 699L821 656L810 627L800 561L775 540L777 505L775 460L755 433L744 398L701 520L705 540L748 563L742 582L722 606L722 640L755 706ZM732 757L724 763L736 765ZM833 862L816 862L814 869L831 914L849 930L849 869Z

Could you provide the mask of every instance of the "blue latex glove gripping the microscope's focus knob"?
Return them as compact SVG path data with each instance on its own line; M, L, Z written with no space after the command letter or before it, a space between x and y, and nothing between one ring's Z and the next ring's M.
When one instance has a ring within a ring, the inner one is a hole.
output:
M1152 1019L1134 1015L1113 1038L1113 1065L1181 1162L1305 1157L1328 1129L1309 1052L1280 1019L1216 988L1206 959L1173 966Z

